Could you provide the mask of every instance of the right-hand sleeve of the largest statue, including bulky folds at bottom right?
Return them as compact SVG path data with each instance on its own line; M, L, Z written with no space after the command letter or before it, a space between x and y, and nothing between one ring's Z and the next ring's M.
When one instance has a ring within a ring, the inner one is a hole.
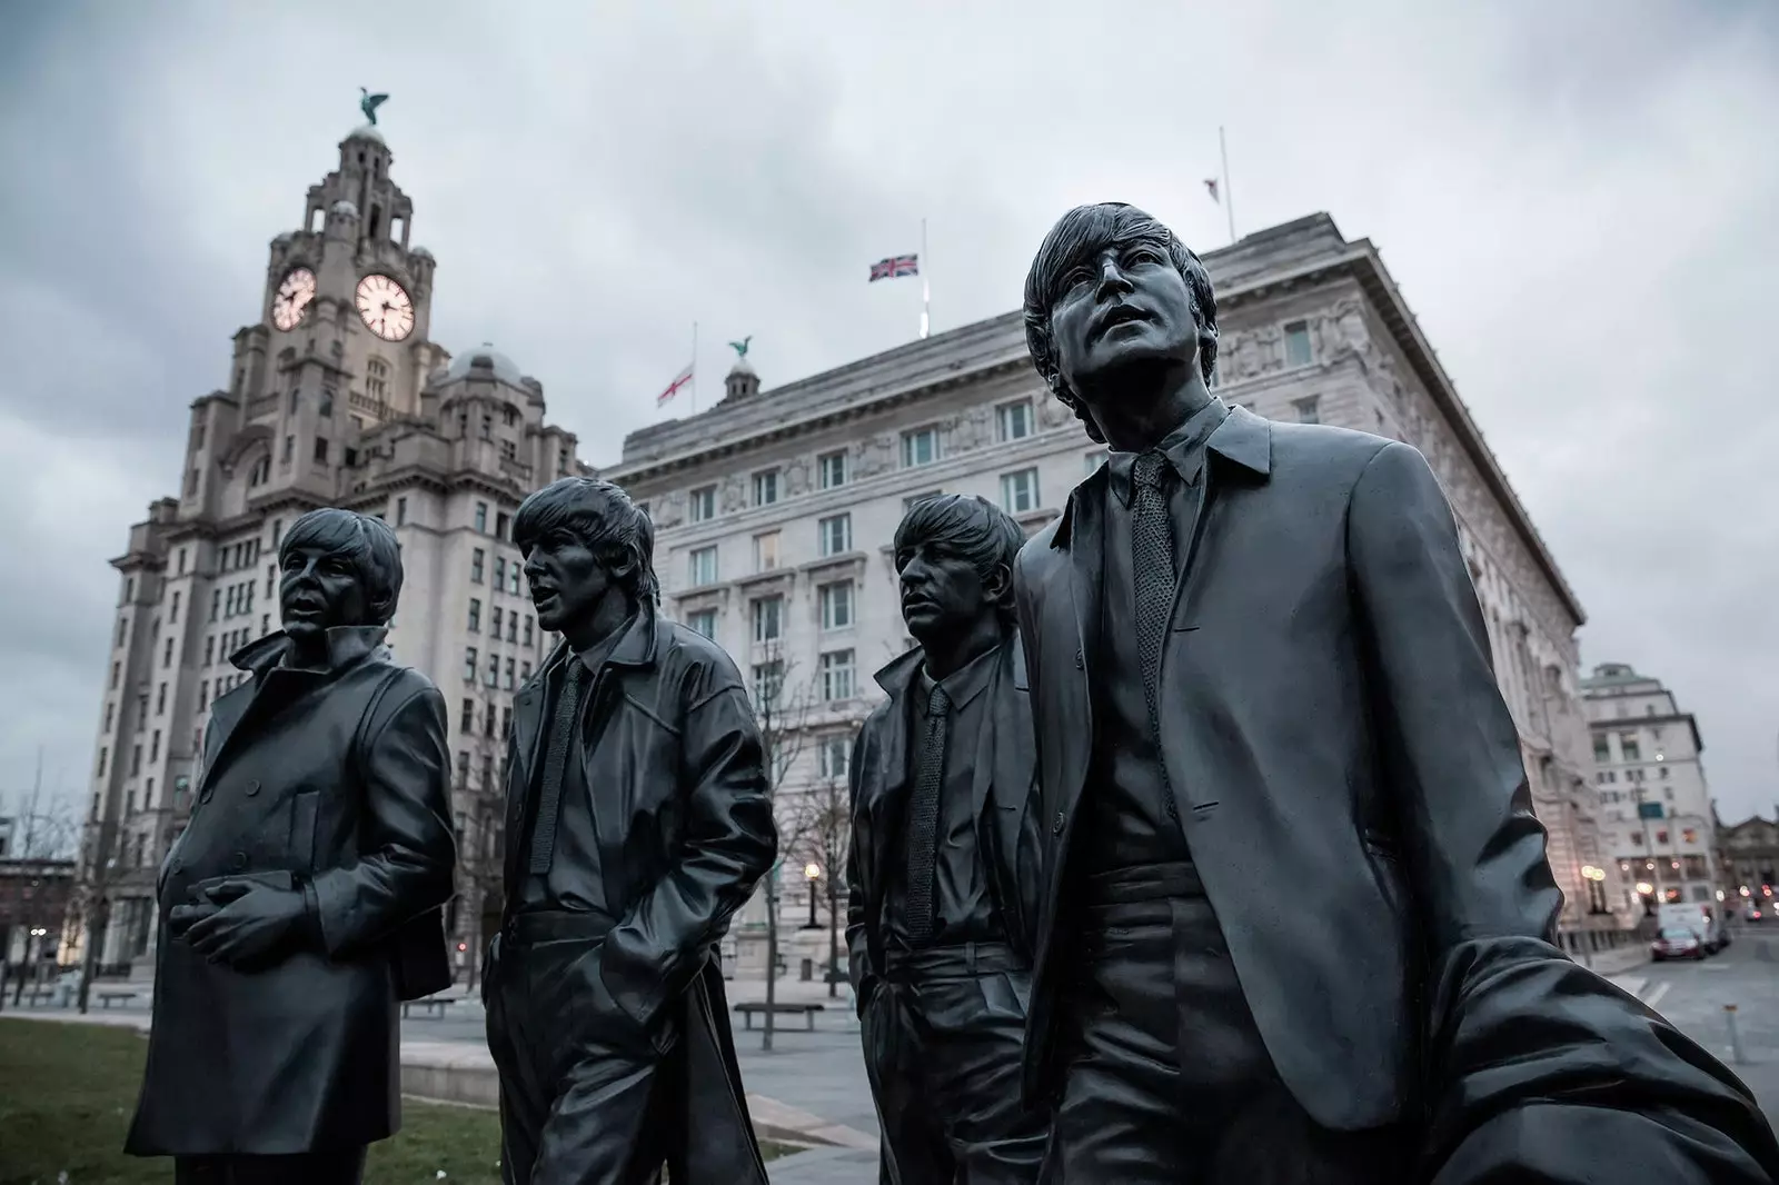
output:
M1389 443L1348 505L1381 762L1427 954L1427 1176L1756 1185L1779 1146L1735 1075L1553 945L1562 895L1452 511ZM1585 1155L1583 1155L1585 1149Z

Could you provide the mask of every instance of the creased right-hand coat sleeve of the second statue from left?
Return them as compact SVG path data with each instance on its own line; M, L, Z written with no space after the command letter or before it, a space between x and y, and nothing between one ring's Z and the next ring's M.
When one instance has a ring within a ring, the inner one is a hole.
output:
M687 685L678 859L612 929L600 955L612 1000L648 1030L692 984L704 950L777 858L760 728L740 676L720 662L726 669L713 664Z

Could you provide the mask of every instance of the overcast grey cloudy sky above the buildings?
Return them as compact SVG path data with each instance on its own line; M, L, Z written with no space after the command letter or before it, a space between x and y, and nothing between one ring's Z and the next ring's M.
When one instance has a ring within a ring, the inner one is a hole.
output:
M89 790L107 560L368 85L434 338L511 354L594 464L694 320L706 393L728 338L767 386L909 340L918 286L865 276L922 217L938 329L1012 310L1078 201L1222 246L1226 125L1236 230L1327 210L1381 247L1583 662L1667 680L1724 815L1772 813L1772 4L735 7L0 0L0 802L39 746Z

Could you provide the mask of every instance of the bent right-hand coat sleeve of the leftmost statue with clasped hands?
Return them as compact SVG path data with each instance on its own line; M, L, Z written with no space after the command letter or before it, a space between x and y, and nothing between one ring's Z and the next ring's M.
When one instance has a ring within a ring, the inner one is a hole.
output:
M317 872L310 884L329 957L386 938L452 895L457 842L439 690L425 683L407 692L382 722L372 721L361 762L363 854L356 865Z

